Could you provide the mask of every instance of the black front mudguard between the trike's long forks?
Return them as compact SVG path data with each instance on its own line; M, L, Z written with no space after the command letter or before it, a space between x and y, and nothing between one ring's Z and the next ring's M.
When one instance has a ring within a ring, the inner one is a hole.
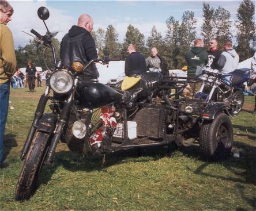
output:
M37 130L50 134L52 131L54 131L56 122L57 122L56 114L46 113L44 114L39 124L37 125Z

